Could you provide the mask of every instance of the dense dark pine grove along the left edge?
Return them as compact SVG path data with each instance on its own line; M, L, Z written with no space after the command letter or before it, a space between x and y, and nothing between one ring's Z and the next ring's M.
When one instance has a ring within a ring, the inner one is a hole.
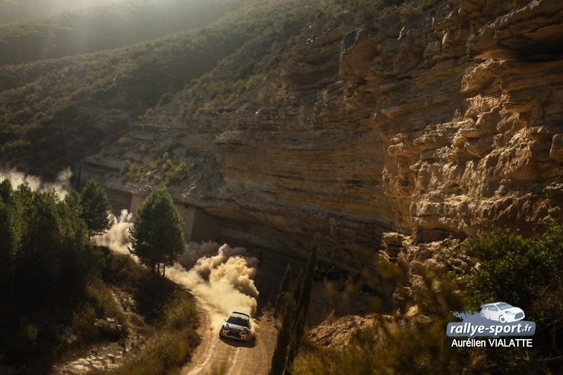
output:
M13 190L8 180L0 191L0 359L55 355L71 334L81 343L96 340L93 320L116 310L100 302L105 287L92 293L104 256L91 246L81 202L26 185Z

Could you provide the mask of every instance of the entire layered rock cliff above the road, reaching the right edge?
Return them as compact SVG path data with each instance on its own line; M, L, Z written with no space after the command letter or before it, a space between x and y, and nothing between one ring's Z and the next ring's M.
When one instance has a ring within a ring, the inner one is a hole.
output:
M187 165L173 196L217 217L222 239L306 256L318 231L322 256L354 268L382 238L396 253L402 235L561 219L563 4L506 13L495 3L331 30L225 110L184 117L177 96L85 174L146 194L151 184L125 179L120 165L159 157L165 144Z

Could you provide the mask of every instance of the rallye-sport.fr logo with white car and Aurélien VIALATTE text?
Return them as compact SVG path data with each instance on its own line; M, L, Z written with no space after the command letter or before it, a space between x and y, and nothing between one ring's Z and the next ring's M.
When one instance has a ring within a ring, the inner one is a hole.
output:
M472 347L526 347L531 348L531 338L500 338L502 336L533 336L536 333L536 323L524 320L524 311L505 302L485 303L481 311L452 312L454 317L462 322L450 322L446 328L446 335L454 338L452 346ZM492 337L488 340L474 339L475 337Z

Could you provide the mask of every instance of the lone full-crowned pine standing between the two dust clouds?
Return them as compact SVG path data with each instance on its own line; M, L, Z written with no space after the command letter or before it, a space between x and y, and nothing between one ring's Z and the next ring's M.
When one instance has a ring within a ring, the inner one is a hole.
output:
M133 226L129 229L131 252L153 271L162 265L165 276L166 265L172 265L177 255L184 251L182 227L182 218L170 194L155 189L135 213Z

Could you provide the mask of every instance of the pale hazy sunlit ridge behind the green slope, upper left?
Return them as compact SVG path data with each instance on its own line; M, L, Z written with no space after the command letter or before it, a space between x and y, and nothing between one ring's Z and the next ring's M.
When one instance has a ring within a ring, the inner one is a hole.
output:
M0 25L0 65L112 49L203 27L236 0L137 0Z

